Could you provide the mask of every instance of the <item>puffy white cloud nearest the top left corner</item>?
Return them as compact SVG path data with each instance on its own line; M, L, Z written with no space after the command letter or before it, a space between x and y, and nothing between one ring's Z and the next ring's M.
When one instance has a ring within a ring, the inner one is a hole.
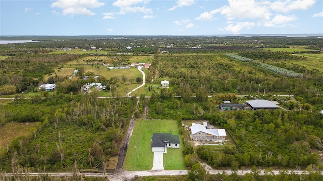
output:
M57 0L51 4L51 7L62 9L63 15L95 15L88 8L98 8L104 6L104 3L97 0Z

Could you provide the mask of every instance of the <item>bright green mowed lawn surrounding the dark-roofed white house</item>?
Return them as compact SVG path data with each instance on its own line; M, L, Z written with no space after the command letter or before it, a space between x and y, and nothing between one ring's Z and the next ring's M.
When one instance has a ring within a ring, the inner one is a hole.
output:
M151 170L153 166L153 152L150 147L152 133L169 132L179 135L177 121L136 120L123 169L130 171ZM167 153L163 154L165 170L186 169L182 149L183 142L180 136L180 149L167 148Z

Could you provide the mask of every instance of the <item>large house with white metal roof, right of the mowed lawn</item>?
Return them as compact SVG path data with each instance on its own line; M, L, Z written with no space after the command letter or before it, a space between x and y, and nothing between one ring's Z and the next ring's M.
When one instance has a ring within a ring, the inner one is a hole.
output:
M225 141L225 129L206 129L204 125L194 124L190 127L190 135L194 141Z

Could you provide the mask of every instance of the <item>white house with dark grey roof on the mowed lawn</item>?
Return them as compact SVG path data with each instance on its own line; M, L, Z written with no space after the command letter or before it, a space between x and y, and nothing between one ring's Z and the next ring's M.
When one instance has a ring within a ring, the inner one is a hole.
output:
M152 152L167 152L167 148L180 148L180 137L172 133L152 133Z

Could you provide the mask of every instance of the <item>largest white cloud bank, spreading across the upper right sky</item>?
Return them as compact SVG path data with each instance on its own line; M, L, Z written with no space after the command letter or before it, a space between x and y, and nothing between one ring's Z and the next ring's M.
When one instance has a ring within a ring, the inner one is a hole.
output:
M245 28L257 26L266 27L295 27L291 24L292 21L297 20L294 15L276 15L279 12L288 13L293 10L307 10L315 4L316 0L228 0L228 4L220 8L214 9L210 12L201 13L195 20L210 21L219 13L227 20L227 26L220 28L223 31L230 31L238 33ZM274 18L273 18L273 15ZM313 15L313 17L323 16L320 13ZM255 23L250 23L256 21ZM236 25L234 20L239 20ZM241 20L244 20L242 22Z

